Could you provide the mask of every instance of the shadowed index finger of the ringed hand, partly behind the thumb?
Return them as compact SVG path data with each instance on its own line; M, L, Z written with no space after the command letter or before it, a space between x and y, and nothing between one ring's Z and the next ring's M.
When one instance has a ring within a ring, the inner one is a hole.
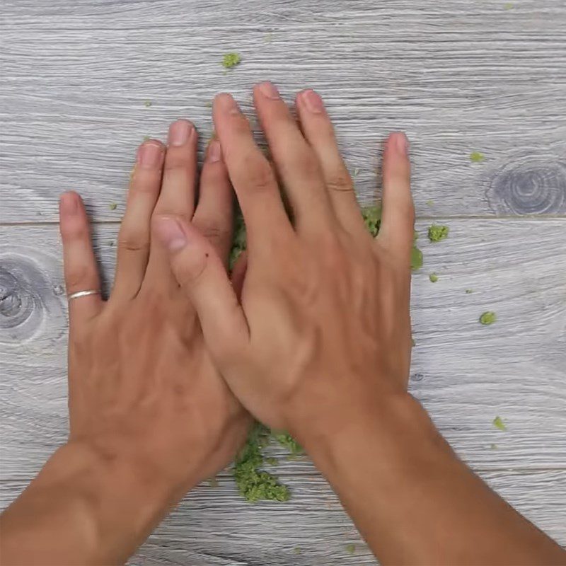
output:
M192 224L212 243L227 266L233 233L233 192L222 160L220 142L216 139L210 142L207 149Z

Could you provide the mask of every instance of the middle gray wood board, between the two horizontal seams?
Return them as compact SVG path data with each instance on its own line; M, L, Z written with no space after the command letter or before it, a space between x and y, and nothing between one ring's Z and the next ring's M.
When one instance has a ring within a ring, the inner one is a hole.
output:
M566 468L566 220L448 222L440 243L417 224L410 389L474 468ZM108 280L117 225L95 229ZM0 241L0 477L25 479L67 432L61 251L53 225L0 227ZM497 323L480 325L484 311Z

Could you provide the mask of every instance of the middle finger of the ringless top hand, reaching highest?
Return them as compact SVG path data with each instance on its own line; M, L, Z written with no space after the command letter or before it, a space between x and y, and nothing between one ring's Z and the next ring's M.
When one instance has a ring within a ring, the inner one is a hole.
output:
M255 108L282 179L298 231L320 231L335 221L316 154L272 83L253 91Z

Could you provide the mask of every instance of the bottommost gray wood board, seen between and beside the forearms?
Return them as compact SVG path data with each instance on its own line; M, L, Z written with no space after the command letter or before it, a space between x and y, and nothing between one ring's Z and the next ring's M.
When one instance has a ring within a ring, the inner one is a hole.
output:
M375 564L340 503L316 471L287 462L282 478L293 486L286 503L244 502L229 478L219 487L200 485L163 521L132 565L192 566ZM566 543L566 470L481 474L543 531ZM25 487L0 483L0 507ZM351 556L345 546L356 545ZM295 548L301 553L296 554Z

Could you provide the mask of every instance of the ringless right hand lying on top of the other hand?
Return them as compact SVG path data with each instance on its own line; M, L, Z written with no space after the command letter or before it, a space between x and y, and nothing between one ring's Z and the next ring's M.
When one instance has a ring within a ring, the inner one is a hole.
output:
M248 231L241 302L197 227L170 217L158 235L231 389L259 420L304 441L304 425L340 427L406 391L414 221L407 140L392 134L386 144L374 240L320 96L297 96L299 129L270 83L254 95L294 224L248 121L231 96L216 97L214 124Z

